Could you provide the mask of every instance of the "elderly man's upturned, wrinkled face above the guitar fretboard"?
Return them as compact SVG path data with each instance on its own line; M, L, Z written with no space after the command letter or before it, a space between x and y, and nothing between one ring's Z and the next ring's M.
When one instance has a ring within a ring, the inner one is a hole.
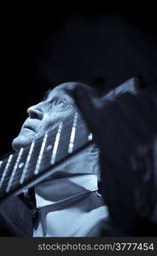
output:
M90 86L81 85L91 90ZM73 97L69 92L76 86L78 83L60 84L49 92L43 102L28 108L28 118L22 125L18 137L13 140L12 147L15 150L26 147L34 138L41 137L45 131L55 129L61 120L65 121L75 113Z

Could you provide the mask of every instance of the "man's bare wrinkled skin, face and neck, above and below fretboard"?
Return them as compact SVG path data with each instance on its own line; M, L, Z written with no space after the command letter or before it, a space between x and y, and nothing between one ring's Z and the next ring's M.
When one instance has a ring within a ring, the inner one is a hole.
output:
M28 118L22 125L18 137L15 137L12 147L15 150L26 147L26 145L32 143L34 138L41 137L45 131L55 129L61 121L67 122L76 112L73 90L79 86L83 86L89 94L96 94L95 89L82 83L71 82L56 86L55 89L49 91L46 99L28 108ZM94 150L93 147L87 148L84 150L84 154L79 154L73 158L73 161L66 162L61 167L59 166L57 177L62 177L63 172L64 176L67 172L68 174L96 173L98 179L100 179L97 165L98 152L95 148Z

